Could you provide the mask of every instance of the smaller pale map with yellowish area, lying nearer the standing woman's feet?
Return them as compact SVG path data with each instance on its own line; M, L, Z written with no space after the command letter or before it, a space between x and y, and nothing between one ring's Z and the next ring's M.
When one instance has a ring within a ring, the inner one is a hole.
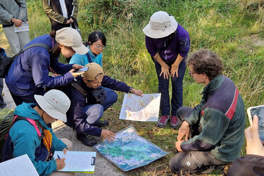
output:
M144 94L143 96L125 94L119 118L156 122L158 121L160 103L161 94Z

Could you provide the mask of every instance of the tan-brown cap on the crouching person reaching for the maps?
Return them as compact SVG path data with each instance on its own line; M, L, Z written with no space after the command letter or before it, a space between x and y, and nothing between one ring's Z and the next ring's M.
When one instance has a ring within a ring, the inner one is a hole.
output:
M95 81L96 75L100 73L103 74L103 68L101 68L98 63L88 63L85 65L85 67L89 67L88 70L82 74L82 77L84 77L86 80Z

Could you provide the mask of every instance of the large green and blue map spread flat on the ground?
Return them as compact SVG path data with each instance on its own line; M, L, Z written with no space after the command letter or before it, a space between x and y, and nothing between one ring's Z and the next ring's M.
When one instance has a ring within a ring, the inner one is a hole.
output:
M114 142L104 140L94 148L123 171L142 167L168 154L140 137L133 125L117 132Z

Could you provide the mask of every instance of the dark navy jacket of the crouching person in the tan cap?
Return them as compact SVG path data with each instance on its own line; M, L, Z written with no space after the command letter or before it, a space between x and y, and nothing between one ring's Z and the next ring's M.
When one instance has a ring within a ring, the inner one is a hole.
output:
M89 123L86 121L87 115L83 112L83 108L85 106L97 103L91 93L93 89L86 86L82 80L82 77L77 77L77 83L79 83L80 86L87 91L87 99L85 99L77 89L70 85L63 89L63 92L67 94L70 99L70 109L67 112L66 125L73 127L73 129L75 129L77 132L100 137L101 129L99 127L89 125ZM124 82L119 82L108 76L103 77L101 87L107 87L120 92L129 92L130 90L130 87ZM97 89L101 89L101 87Z

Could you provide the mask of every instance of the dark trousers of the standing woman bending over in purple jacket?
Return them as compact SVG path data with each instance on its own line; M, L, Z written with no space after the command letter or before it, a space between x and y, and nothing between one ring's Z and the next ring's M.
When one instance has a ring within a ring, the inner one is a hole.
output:
M161 65L155 63L156 73L158 75L158 93L161 93L161 115L170 115L170 94L169 79L164 79L161 74ZM170 65L169 65L170 66ZM178 77L170 77L172 83L171 115L176 115L178 108L182 107L182 81L186 70L185 58L179 65Z

